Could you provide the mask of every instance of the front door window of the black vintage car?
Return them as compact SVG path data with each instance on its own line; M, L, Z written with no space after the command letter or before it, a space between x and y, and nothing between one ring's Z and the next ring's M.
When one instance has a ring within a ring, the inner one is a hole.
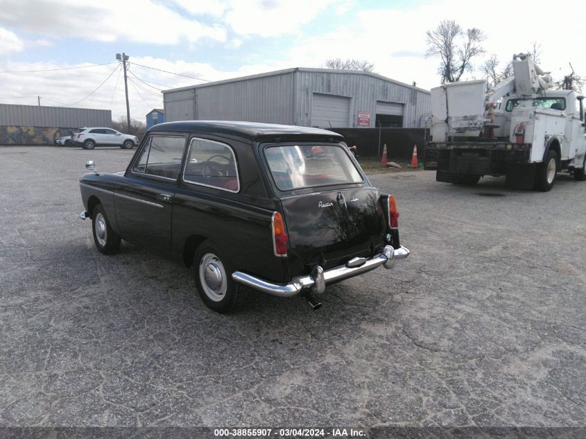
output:
M132 171L177 180L184 149L183 137L150 137L144 144Z

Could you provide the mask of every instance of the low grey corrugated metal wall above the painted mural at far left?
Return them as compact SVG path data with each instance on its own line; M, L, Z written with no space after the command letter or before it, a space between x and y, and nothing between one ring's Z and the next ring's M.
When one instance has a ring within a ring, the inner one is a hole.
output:
M0 104L0 126L112 126L111 110Z

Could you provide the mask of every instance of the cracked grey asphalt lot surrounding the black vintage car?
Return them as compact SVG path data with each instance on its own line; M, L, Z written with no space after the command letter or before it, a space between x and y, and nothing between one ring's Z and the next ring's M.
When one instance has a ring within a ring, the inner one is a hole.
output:
M404 263L220 315L188 268L94 249L78 178L133 152L0 147L1 427L586 427L586 183L373 174Z

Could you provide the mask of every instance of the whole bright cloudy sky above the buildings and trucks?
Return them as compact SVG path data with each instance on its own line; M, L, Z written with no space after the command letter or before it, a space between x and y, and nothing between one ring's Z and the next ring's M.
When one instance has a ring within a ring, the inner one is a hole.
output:
M116 53L130 55L132 119L162 107L160 89L322 67L374 63L383 76L429 89L438 60L426 37L442 19L480 28L485 56L505 64L540 44L554 78L586 76L583 2L501 0L0 0L0 103L111 109L126 115ZM96 65L100 64L100 65ZM78 68L82 67L82 68ZM171 72L171 73L166 73ZM470 77L479 78L473 73Z

